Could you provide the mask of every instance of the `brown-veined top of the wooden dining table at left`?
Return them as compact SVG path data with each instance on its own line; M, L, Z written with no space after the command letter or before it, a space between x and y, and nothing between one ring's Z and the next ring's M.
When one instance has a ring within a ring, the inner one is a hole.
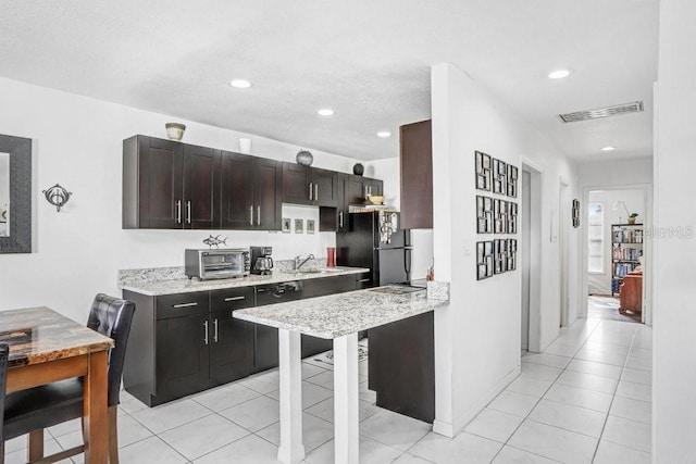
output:
M8 366L39 364L108 350L113 340L49 308L0 311L0 342Z

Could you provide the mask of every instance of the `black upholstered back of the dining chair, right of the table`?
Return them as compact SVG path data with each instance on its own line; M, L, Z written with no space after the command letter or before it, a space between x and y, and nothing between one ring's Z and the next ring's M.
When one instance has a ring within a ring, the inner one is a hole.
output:
M99 293L89 311L87 327L111 337L114 347L109 354L109 406L119 404L119 390L135 304L128 300Z

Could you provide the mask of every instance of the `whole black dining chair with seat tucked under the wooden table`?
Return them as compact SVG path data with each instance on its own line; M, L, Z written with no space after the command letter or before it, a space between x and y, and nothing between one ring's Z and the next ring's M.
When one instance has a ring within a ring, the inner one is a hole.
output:
M109 353L107 380L109 462L111 464L119 463L116 426L119 393L134 312L135 304L132 301L99 293L95 298L87 321L87 327L114 340L114 347ZM44 456L44 429L83 417L83 378L77 377L8 394L4 404L2 438L9 440L29 434L27 456L29 462L40 459L54 462L84 452L85 446L83 443L51 456ZM0 461L0 463L2 462Z

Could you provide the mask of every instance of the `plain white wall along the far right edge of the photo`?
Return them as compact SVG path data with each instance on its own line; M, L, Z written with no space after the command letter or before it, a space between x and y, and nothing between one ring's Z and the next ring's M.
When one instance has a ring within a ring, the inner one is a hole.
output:
M694 462L696 2L661 0L655 150L652 460Z

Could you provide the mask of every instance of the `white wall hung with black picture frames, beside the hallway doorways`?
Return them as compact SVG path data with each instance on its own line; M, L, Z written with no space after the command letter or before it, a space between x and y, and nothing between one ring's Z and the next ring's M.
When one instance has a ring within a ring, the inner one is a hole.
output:
M533 127L499 104L451 64L432 68L434 253L436 279L451 284L448 308L435 313L437 432L452 436L520 371L520 271L476 280L475 243L494 236L475 230L474 151L521 166L542 166L540 347L559 333L559 242L551 242L558 217L560 179L576 198L574 167ZM518 203L520 197L518 197ZM568 204L570 210L570 202ZM521 210L520 210L521 211ZM555 213L551 214L551 211ZM570 213L567 214L570 217ZM569 261L577 262L577 231L569 227ZM520 235L517 235L520 242ZM577 314L576 269L570 273L571 317ZM556 285L555 285L556 284Z

